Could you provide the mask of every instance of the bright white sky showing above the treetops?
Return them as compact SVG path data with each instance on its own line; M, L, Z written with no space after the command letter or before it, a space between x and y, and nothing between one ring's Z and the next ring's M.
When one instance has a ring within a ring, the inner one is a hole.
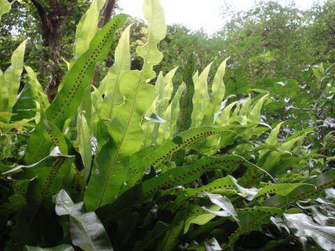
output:
M313 0L292 0L297 7L307 9L313 6ZM220 15L224 0L161 0L168 24L184 24L188 29L203 28L207 33L214 33L222 28L223 17ZM238 10L248 10L254 0L227 0ZM282 1L282 2L288 2ZM140 17L143 0L119 0L123 13Z

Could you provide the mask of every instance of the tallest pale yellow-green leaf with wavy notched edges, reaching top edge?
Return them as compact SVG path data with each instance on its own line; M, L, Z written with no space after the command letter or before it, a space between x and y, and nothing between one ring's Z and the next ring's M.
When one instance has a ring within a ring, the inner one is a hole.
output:
M156 76L152 68L163 58L157 45L165 37L166 24L158 0L145 0L143 10L149 22L148 39L145 45L137 47L137 54L144 59L144 65L140 71L127 71L121 76L119 86L125 100L115 107L117 116L107 129L112 142L101 149L89 181L84 201L90 210L117 198L126 181L130 157L140 149L145 137L141 128L143 114L154 100L154 86L147 82Z

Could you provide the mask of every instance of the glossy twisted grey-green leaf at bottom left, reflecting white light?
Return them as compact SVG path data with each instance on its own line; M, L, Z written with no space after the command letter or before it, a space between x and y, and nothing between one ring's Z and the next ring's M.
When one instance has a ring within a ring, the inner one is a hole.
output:
M73 245L84 251L112 251L110 238L96 213L84 213L82 202L74 204L65 190L57 194L57 215L70 215L70 234Z

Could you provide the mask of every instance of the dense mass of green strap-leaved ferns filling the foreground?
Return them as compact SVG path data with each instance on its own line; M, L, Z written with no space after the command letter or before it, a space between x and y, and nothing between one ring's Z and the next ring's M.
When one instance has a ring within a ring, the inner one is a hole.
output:
M199 73L193 55L156 76L166 26L159 1L144 0L142 70L130 70L128 26L91 86L126 20L92 31L101 4L77 26L51 104L24 65L26 41L0 72L1 250L335 250L332 66L305 72L307 89L291 79L226 86L228 59L207 84L211 65Z

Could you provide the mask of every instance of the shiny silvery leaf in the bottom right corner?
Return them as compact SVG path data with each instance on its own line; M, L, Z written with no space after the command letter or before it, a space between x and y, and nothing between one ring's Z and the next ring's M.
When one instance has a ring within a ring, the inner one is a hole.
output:
M304 213L284 213L284 220L291 234L313 238L325 250L335 249L335 227L318 225Z

